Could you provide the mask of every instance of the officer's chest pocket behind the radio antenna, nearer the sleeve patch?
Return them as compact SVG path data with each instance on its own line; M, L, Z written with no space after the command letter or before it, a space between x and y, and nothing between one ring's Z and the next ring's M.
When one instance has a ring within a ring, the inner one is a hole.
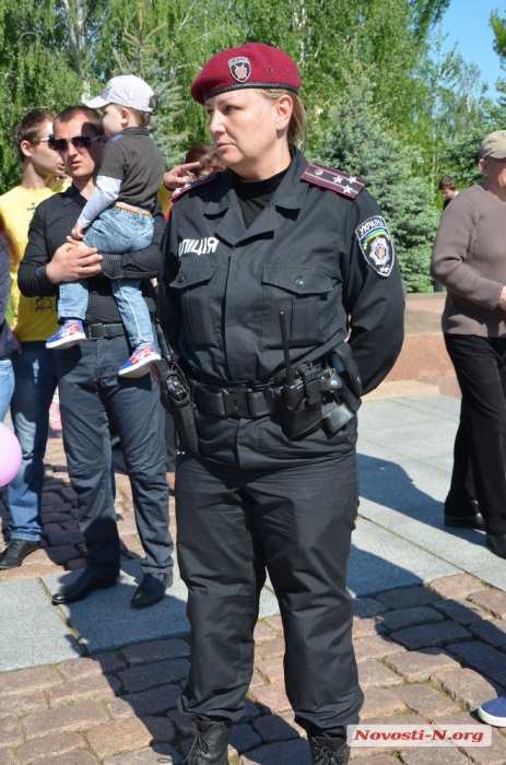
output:
M280 310L286 319L291 348L323 342L331 320L331 278L297 266L262 271L262 349L282 348Z

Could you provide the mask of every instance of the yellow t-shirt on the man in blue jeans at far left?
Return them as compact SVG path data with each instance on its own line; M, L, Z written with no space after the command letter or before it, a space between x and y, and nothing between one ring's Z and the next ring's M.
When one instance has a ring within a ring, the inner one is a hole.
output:
M28 228L40 202L52 193L64 191L68 184L57 180L50 189L24 189L16 186L0 197L0 212L24 256L28 243ZM47 340L58 330L57 298L25 297L17 286L17 274L11 274L11 307L14 314L13 329L22 342Z

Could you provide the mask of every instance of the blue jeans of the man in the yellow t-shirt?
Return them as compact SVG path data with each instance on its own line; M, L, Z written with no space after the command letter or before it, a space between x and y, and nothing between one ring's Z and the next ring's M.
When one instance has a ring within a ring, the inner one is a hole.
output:
M12 522L11 539L37 542L43 525L40 504L44 482L44 455L49 427L49 407L56 388L55 354L45 342L21 343L23 353L11 355L14 393L11 416L21 443L23 461L9 484Z

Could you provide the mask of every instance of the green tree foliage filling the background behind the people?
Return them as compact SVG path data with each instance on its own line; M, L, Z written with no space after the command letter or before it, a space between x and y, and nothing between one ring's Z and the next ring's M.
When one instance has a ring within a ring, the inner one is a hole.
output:
M299 67L309 153L322 156L331 140L329 161L346 162L367 177L393 221L404 278L410 289L423 289L438 179L449 173L460 186L472 183L483 131L502 125L505 113L504 104L486 97L475 68L457 50L443 54L435 30L448 4L0 0L0 95L7 105L0 114L0 192L19 181L13 133L21 116L80 103L120 72L153 86L158 108L152 134L167 165L179 161L208 139L204 109L189 95L200 69L226 47L260 40L283 48ZM491 23L495 49L506 60L506 22L496 13ZM356 136L380 162L366 155ZM345 149L339 150L340 140Z

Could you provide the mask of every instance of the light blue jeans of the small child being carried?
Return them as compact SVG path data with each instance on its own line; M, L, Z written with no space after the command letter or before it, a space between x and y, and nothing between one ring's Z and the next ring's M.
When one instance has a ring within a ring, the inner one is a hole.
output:
M84 243L99 252L131 252L149 247L153 238L153 219L120 208L108 208L92 223ZM119 315L131 345L152 343L150 311L134 279L110 282ZM87 280L60 284L58 317L84 319L87 309Z

